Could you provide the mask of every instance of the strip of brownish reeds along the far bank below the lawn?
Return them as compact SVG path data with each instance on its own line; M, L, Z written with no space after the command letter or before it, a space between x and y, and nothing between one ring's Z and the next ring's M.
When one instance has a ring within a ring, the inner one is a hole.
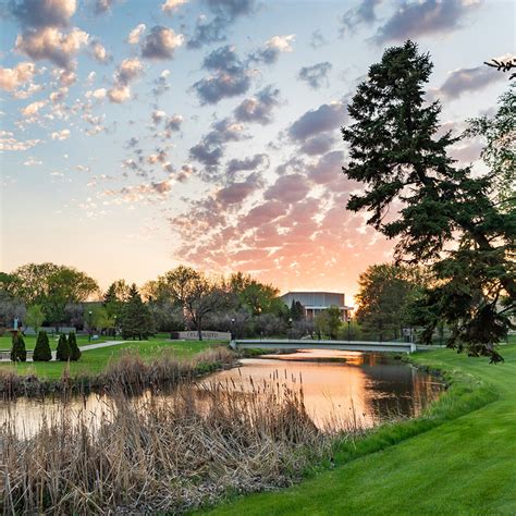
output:
M4 398L52 393L87 394L113 389L132 394L149 388L170 389L181 381L233 367L237 359L238 355L223 346L201 352L192 359L163 352L151 360L144 360L138 353L127 352L98 374L72 377L65 368L59 380L42 379L32 373L19 374L11 368L0 368L0 393Z

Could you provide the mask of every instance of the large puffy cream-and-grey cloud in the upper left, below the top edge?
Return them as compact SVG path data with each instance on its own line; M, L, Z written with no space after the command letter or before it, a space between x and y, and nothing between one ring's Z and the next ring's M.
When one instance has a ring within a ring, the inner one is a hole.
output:
M15 49L34 60L48 60L62 69L70 69L88 39L89 35L76 27L67 34L57 27L44 27L19 35Z

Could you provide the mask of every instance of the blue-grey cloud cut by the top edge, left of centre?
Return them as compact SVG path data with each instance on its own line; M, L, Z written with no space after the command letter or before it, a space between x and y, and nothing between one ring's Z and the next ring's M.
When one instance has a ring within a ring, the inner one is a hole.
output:
M205 16L199 16L194 35L187 41L188 48L224 41L228 27L236 19L251 14L256 7L256 0L205 0L204 3L213 19L207 22Z

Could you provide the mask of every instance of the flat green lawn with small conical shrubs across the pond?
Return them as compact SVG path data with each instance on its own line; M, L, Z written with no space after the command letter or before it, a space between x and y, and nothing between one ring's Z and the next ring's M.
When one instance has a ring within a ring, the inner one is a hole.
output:
M88 344L87 341L81 342L78 345L83 346L86 344ZM94 344L94 342L91 344ZM148 341L131 341L116 346L101 347L99 349L83 352L81 360L70 363L70 374L72 377L77 374L97 374L101 372L110 361L116 360L123 353L127 351L137 352L144 359L150 359L165 351L170 351L176 354L179 357L189 357L210 346L219 344L220 343L214 341L170 342L159 336L149 339ZM0 363L0 368L13 368L19 374L24 376L27 373L34 373L39 378L46 378L49 380L59 380L62 377L63 370L66 366L67 364L65 363L57 361L25 364Z

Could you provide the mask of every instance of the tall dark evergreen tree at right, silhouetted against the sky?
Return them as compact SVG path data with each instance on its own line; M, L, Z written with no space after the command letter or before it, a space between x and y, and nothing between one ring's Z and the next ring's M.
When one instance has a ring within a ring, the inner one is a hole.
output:
M499 302L516 302L516 213L493 201L489 174L456 167L449 156L458 138L451 132L440 136L441 106L426 103L431 71L429 56L407 41L385 50L358 86L348 107L353 122L342 128L351 156L343 171L366 188L351 196L347 208L371 212L368 223L397 238L398 259L447 260L435 270L439 287L425 302L440 307L427 310L435 316L427 319L428 328L444 317L456 328L451 347L465 345L469 354L496 361L495 344L508 328ZM388 217L389 210L398 214ZM447 250L456 242L460 247ZM478 265L481 277L472 282Z

